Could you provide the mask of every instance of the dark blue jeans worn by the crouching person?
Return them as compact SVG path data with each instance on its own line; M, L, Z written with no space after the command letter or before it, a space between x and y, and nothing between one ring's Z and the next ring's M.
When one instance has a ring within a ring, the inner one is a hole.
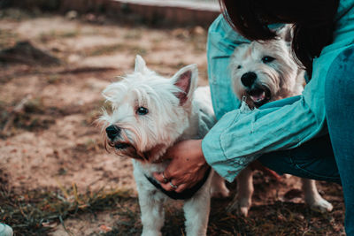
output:
M267 153L258 160L273 171L342 183L345 231L354 235L354 46L344 50L326 78L328 133L298 148ZM298 97L262 108L294 103Z

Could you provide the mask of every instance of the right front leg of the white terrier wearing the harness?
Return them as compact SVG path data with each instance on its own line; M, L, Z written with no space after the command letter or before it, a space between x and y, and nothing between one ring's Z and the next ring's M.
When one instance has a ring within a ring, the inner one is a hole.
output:
M186 217L187 236L206 235L211 202L209 186L210 181L207 181L193 198L184 203L183 210Z

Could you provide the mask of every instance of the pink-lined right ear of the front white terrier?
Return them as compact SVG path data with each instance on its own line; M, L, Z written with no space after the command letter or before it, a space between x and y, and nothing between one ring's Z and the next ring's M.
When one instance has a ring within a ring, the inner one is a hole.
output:
M176 96L180 99L180 104L186 103L192 98L196 90L198 80L198 68L196 64L187 65L173 75L172 81L175 86L181 89Z

